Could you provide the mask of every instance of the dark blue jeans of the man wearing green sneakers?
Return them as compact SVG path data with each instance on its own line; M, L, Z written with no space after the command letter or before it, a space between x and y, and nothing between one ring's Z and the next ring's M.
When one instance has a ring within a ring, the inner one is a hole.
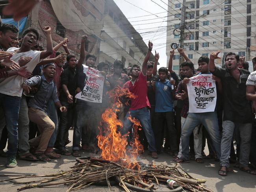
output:
M0 93L0 107L3 108L8 131L7 155L16 156L18 150L18 119L20 97Z

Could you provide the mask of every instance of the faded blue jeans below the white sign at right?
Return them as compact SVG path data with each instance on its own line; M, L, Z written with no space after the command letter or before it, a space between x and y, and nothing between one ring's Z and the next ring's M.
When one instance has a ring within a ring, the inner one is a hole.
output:
M182 141L182 159L189 160L189 137L196 126L203 124L208 131L213 146L216 150L217 157L221 157L221 133L219 131L219 124L217 113L189 113L182 126L181 141Z

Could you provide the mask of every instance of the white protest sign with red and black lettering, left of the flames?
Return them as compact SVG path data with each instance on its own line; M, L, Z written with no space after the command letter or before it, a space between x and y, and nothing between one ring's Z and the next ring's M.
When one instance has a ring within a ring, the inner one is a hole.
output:
M76 94L76 98L87 102L102 103L104 76L100 71L83 65L83 72L86 74L85 86L82 92Z

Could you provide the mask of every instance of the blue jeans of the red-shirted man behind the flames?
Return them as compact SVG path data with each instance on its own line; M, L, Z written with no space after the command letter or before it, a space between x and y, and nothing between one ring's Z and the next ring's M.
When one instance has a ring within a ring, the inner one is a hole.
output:
M151 127L149 109L147 107L144 107L142 109L129 111L124 118L124 126L121 130L122 135L127 133L128 131L132 133L133 123L130 120L128 120L128 116L132 116L139 120L139 122L141 123L142 129L145 132L146 138L148 140L149 151L156 152L155 137L154 137L153 129ZM128 138L128 143L130 143L129 138Z

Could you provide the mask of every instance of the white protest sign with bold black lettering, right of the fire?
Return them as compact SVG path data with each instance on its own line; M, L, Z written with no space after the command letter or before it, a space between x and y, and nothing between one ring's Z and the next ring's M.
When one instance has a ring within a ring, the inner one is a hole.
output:
M197 75L189 78L187 93L189 113L213 112L217 100L216 84L211 74Z

